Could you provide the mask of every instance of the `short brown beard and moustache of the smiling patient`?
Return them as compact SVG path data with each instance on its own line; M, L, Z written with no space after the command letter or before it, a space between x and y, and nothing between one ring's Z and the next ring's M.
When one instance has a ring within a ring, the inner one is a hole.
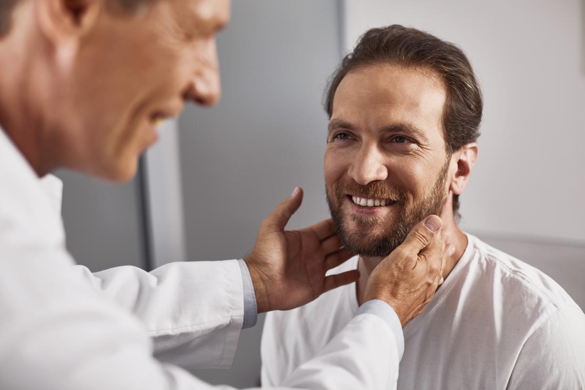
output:
M360 185L350 180L337 186L333 185L332 194L326 189L329 212L335 222L340 241L347 249L360 256L388 256L422 219L432 214L441 216L447 203L445 184L448 168L449 158L439 172L431 191L422 199L414 199L405 188L390 188L385 182L380 181ZM393 199L395 204L392 207L398 208L398 214L392 220L351 215L347 208L342 208L347 200L347 194L368 199ZM350 221L353 222L353 226ZM374 234L373 231L379 230L380 227L383 228L383 232Z

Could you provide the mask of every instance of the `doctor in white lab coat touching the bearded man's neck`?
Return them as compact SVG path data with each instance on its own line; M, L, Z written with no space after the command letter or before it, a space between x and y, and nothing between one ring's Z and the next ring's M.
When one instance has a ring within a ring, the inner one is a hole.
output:
M161 120L218 101L215 34L228 19L228 0L0 2L0 388L211 388L184 368L229 367L257 313L356 281L325 275L352 256L331 220L284 230L299 188L244 260L91 274L66 250L50 172L132 178ZM444 241L437 216L419 223L353 320L284 385L395 386L401 325L441 283Z

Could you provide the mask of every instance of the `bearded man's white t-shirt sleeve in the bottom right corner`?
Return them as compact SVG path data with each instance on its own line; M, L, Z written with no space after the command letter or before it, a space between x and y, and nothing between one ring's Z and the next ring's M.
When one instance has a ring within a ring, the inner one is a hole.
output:
M585 389L585 314L562 306L528 337L508 390Z

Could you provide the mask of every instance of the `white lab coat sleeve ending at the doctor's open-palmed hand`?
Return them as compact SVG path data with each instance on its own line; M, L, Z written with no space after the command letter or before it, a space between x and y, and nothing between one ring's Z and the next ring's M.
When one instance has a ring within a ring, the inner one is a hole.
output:
M170 263L146 272L116 267L74 274L132 312L152 337L156 358L185 368L228 368L244 316L237 260Z

